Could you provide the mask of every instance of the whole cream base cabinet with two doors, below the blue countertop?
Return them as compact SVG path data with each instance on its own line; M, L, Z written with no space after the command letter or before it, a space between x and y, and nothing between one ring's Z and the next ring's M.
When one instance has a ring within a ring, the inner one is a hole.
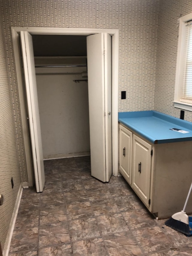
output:
M157 219L183 209L192 180L192 141L153 144L119 124L119 172ZM192 195L186 207L192 213Z

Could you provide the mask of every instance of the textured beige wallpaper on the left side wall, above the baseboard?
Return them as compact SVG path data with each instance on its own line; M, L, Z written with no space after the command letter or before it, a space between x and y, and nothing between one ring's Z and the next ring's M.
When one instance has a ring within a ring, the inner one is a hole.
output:
M13 177L14 182L13 189L11 187L11 177ZM0 206L0 240L2 248L4 247L20 183L21 177L10 97L7 56L0 17L0 194L4 196L4 204Z

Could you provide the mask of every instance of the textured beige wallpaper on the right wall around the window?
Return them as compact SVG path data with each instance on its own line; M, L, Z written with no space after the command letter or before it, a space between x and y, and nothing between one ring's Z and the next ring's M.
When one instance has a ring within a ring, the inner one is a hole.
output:
M158 16L158 47L155 80L155 110L180 117L180 109L173 107L178 19L192 12L191 0L161 0ZM192 112L185 110L184 119L192 122Z

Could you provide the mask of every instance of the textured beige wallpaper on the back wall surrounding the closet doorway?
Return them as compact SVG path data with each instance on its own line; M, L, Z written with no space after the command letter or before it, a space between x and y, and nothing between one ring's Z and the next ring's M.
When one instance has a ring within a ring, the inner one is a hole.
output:
M119 111L151 110L159 0L4 0L2 18L22 182L27 181L11 26L119 29ZM127 99L121 100L121 91Z

